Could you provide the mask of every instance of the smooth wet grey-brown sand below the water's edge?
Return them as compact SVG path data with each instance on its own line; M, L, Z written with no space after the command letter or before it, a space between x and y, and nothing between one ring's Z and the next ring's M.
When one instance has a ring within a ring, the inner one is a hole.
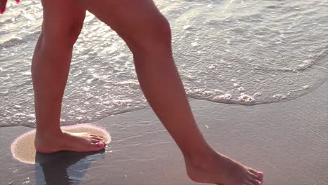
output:
M326 82L289 102L246 107L191 100L191 107L208 142L264 171L266 185L326 185L327 92ZM151 109L96 124L111 134L105 151L36 155L36 164L15 160L11 153L14 139L32 128L0 128L0 184L196 184Z

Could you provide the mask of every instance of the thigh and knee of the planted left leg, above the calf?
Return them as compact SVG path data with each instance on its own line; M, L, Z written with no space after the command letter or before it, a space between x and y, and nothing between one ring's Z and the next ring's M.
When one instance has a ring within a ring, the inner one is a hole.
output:
M42 33L48 41L77 39L83 27L86 9L75 0L41 0ZM74 41L75 42L75 41Z

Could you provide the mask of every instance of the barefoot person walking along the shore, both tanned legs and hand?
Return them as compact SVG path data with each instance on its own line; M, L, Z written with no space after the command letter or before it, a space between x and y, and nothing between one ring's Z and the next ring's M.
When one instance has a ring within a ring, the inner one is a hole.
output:
M36 151L98 151L106 145L97 135L60 128L73 46L90 11L114 29L133 53L144 96L181 149L189 177L211 184L262 184L262 172L214 151L203 138L172 57L170 25L153 1L41 1L42 32L32 59ZM0 13L6 3L0 0Z

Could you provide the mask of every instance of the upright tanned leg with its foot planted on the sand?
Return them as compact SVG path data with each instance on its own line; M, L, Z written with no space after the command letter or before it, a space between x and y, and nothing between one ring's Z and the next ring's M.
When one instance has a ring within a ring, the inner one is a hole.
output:
M62 96L67 83L73 45L86 10L71 0L43 0L43 25L32 61L36 111L36 151L96 151L102 138L60 130Z

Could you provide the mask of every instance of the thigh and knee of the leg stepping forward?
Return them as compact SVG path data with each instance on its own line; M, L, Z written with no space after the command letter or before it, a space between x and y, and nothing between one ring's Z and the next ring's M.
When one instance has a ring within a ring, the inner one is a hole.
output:
M163 27L169 31L168 21L152 0L76 0L97 18L114 29L129 45L154 40L154 32ZM162 34L162 36L164 36ZM157 36L156 36L157 37Z

